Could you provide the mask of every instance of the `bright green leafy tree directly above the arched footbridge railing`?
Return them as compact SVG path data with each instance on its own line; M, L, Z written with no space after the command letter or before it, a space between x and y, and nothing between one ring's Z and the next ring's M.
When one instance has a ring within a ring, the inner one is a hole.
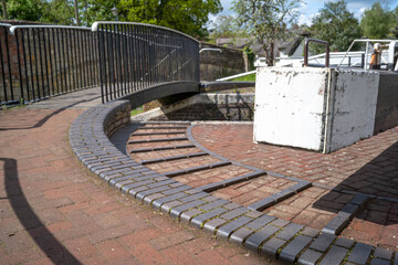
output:
M220 0L122 0L121 20L163 25L192 36L207 35L209 14L222 10Z

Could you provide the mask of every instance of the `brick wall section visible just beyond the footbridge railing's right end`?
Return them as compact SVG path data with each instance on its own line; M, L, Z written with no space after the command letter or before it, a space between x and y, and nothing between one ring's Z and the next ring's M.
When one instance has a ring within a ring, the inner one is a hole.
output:
M214 81L229 75L249 71L245 53L241 50L201 43L200 49L210 47L219 51L202 51L200 53L200 80Z

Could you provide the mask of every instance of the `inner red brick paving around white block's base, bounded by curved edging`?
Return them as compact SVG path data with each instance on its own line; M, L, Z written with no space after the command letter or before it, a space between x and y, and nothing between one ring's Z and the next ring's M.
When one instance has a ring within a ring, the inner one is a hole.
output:
M233 161L364 193L398 198L398 127L329 155L253 144L252 125L198 125L196 140Z

